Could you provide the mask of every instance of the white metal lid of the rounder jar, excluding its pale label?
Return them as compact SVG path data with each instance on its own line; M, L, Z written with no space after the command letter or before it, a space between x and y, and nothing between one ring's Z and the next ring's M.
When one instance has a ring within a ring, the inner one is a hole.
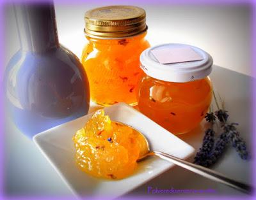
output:
M162 48L192 48L202 60L178 62L173 64L161 64L152 54L152 50ZM166 82L190 82L205 78L212 71L212 57L204 50L191 45L164 44L157 45L144 50L140 55L140 68L152 78Z

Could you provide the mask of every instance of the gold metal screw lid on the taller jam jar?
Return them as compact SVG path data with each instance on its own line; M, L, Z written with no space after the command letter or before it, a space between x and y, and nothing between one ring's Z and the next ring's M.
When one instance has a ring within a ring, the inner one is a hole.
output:
M146 12L136 6L106 6L86 11L86 35L113 39L135 36L147 31Z

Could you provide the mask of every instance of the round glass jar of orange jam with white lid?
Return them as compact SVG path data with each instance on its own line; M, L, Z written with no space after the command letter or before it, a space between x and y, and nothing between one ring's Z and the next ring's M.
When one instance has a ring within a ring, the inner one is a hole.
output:
M140 66L141 113L173 134L195 129L211 104L211 55L195 46L159 45L141 54Z

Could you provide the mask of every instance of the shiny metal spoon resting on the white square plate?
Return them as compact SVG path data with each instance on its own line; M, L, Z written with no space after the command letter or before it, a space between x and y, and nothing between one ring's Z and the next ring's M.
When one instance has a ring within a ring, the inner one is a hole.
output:
M127 125L122 122L116 122L118 124ZM150 150L150 146L148 145L147 138L138 130L134 129L131 125L127 125L131 127L134 131L137 131L142 138L145 140L145 145L147 145L147 149L145 152L141 152L139 159L137 162L143 161L147 157L151 155L156 155L157 157L160 157L161 159L164 159L166 161L172 162L173 164L176 164L177 166L180 166L182 168L188 169L189 171L193 171L194 173L204 176L205 178L209 178L215 182L223 183L224 185L228 185L229 187L232 187L234 189L240 190L241 192L251 194L252 193L252 187L250 185L246 185L245 183L237 182L236 180L232 180L230 178L227 178L224 175L221 175L220 173L213 171L212 169L204 168L202 166L198 166L196 164L192 164L191 162L184 161L182 159L179 159L173 155L165 154L163 152L158 152L154 150Z

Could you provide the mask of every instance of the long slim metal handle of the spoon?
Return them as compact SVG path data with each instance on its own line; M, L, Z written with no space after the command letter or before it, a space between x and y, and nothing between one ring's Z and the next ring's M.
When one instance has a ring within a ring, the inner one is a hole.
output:
M161 159L170 161L173 164L176 164L177 166L188 169L189 171L193 171L194 173L204 176L205 178L209 178L216 182L220 182L225 185L228 185L229 187L232 187L234 189L240 190L241 192L244 192L247 194L250 194L252 192L252 187L250 187L250 185L246 185L244 183L237 182L236 180L227 178L226 176L221 175L220 173L217 173L216 171L213 171L211 169L204 168L202 166L198 166L196 164L184 161L182 159L179 159L179 158L169 155L169 154L165 154L163 152L154 151L154 152L150 152L150 153L151 153L151 155L152 154L157 155L158 157L161 157Z

